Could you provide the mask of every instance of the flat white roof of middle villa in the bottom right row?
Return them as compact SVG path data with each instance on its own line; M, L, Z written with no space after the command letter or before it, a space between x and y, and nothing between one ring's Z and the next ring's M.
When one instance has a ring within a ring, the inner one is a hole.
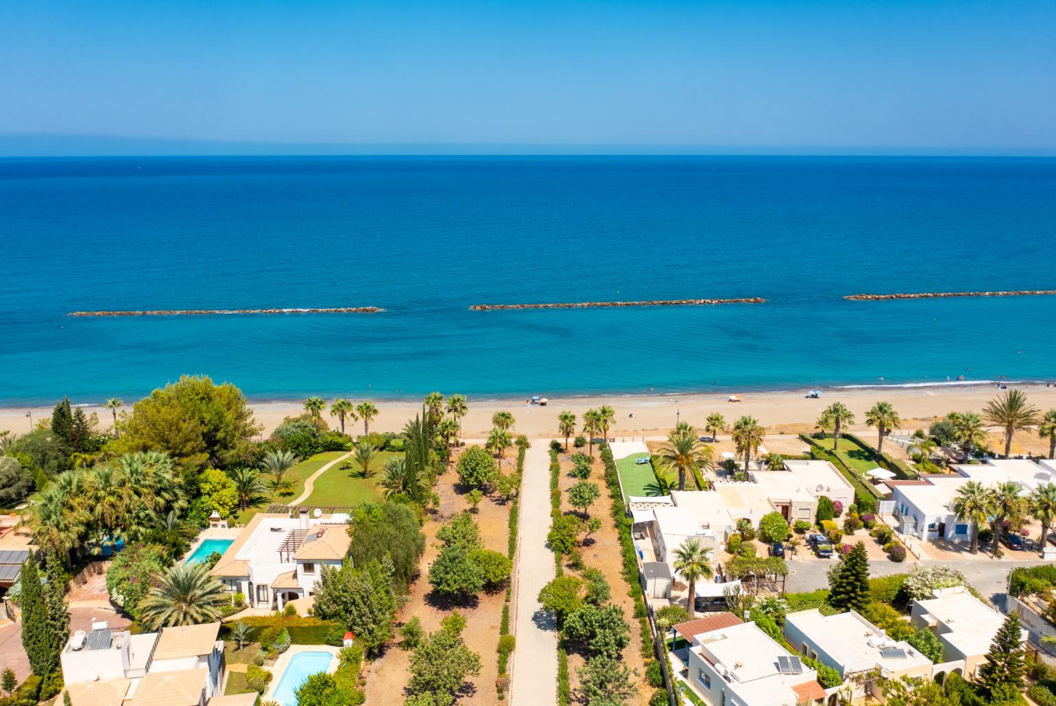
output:
M823 615L822 611L814 608L789 613L785 621L842 665L845 673L883 667L891 671L904 671L931 664L930 660L914 650L909 643L885 641L880 628L854 611ZM887 648L902 649L906 656L885 657L881 650Z

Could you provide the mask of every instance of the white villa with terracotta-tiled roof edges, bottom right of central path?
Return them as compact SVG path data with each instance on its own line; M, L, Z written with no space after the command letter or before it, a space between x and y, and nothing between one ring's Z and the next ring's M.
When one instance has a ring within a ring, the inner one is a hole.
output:
M690 642L672 664L682 683L711 706L806 706L825 702L817 673L733 613L675 626Z

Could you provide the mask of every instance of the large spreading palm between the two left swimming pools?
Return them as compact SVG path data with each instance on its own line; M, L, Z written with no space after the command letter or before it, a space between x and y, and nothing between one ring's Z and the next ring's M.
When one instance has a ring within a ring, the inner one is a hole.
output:
M209 571L208 561L173 565L139 604L139 622L157 630L219 621L229 599Z

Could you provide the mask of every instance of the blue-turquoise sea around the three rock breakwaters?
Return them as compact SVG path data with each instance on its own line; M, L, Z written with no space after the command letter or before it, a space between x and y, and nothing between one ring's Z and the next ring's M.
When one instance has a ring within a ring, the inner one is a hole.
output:
M1056 379L1056 297L842 299L1056 288L1056 159L2 159L0 243L3 404ZM386 311L67 316L339 306Z

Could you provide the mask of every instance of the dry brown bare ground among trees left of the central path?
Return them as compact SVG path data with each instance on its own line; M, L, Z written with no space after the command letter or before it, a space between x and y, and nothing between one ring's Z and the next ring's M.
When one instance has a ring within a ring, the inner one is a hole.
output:
M514 450L515 451L515 450ZM515 471L515 454L507 452L503 464L503 473ZM505 591L482 593L476 600L466 605L452 605L432 593L429 585L429 567L439 554L436 531L459 512L470 509L465 493L457 486L458 474L454 470L454 461L436 481L435 491L440 497L440 504L435 513L427 519L422 532L426 533L426 553L421 558L421 573L411 585L410 596L399 612L398 626L402 626L412 617L421 621L421 627L427 632L439 630L440 621L454 611L466 617L466 629L463 638L466 645L480 655L480 675L467 680L467 687L458 694L456 703L463 706L494 704L495 680L498 676L496 647L498 645L498 626L503 616ZM478 505L478 512L473 519L480 528L480 539L488 549L506 553L509 540L509 505L503 504L496 498L485 497ZM407 699L404 687L411 678L411 652L404 651L398 645L399 637L385 653L370 663L366 674L366 701L370 704L402 704Z

